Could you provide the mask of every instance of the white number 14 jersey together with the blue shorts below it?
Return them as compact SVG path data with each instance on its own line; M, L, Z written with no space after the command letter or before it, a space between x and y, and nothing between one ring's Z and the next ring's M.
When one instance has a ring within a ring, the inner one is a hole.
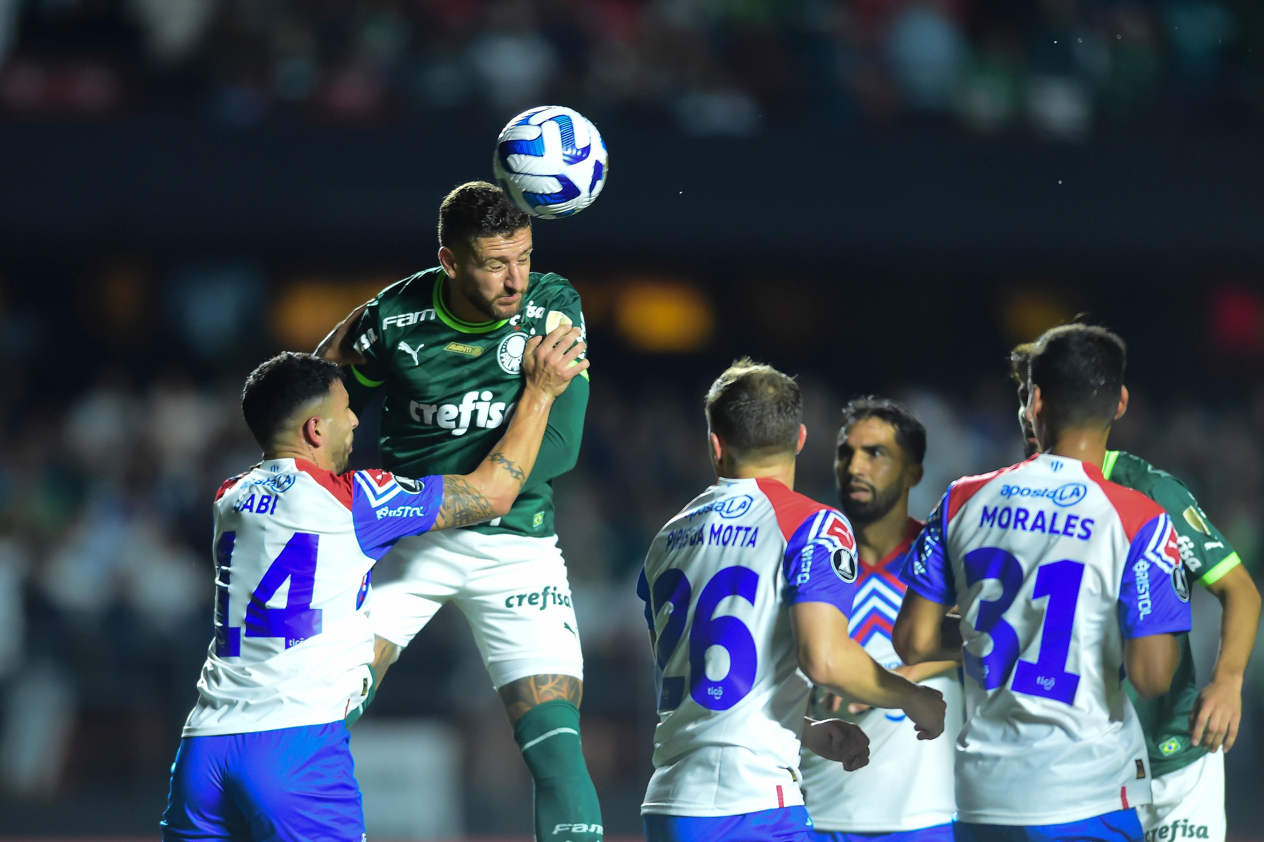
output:
M343 718L369 692L369 571L428 531L444 480L269 460L215 497L215 639L185 723L166 842L356 842Z

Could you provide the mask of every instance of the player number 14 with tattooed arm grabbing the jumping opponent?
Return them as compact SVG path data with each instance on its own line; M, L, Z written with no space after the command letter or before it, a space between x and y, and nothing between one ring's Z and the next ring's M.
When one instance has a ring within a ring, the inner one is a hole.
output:
M358 420L337 365L282 353L250 374L241 412L263 462L215 497L215 639L172 766L163 839L363 838L344 717L379 678L370 569L406 535L509 510L554 399L586 367L575 365L583 351L578 328L530 340L499 444L470 473L418 480L344 472Z

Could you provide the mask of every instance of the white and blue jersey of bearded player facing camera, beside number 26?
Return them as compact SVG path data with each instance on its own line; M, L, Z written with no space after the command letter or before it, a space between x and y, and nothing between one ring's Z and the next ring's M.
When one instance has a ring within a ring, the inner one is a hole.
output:
M908 587L900 578L904 557L921 525L909 518L904 540L885 558L873 564L860 560L848 631L887 669L904 664L891 644L891 629ZM961 679L953 670L924 683L943 693L947 706L944 732L935 740L918 740L904 711L870 708L857 716L848 715L846 708L838 713L813 711L818 718L837 716L854 722L870 738L868 765L856 771L803 750L803 795L818 832L834 832L838 839L849 833L894 834L887 842L951 838L951 828L943 826L957 813L953 741L962 725ZM927 828L935 829L901 836Z

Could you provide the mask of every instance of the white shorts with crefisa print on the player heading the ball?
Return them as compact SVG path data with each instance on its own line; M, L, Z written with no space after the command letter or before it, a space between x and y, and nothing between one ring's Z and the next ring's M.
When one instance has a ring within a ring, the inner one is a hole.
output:
M469 621L497 689L527 675L584 678L556 535L449 529L404 538L374 568L369 621L403 648L449 601Z

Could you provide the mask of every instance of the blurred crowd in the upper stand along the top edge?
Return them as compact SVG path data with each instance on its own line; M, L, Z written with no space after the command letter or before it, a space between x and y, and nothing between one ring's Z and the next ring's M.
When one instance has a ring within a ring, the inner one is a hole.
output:
M0 0L0 109L378 124L565 101L695 135L1076 141L1264 120L1254 0Z

